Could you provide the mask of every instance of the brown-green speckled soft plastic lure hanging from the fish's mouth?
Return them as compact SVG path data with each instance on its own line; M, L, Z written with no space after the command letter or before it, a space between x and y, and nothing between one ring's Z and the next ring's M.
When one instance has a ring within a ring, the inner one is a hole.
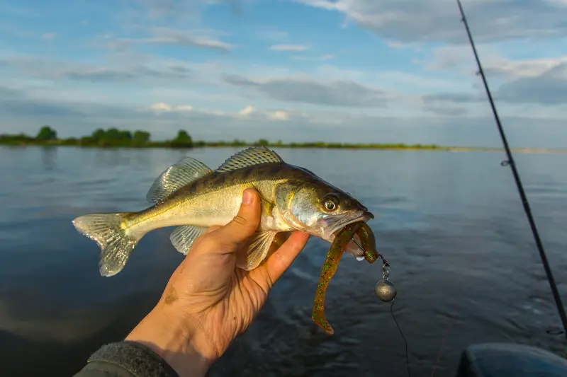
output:
M345 226L335 237L319 277L315 302L313 303L313 313L311 315L313 322L329 335L332 335L335 330L325 319L325 293L327 293L329 282L335 275L335 272L337 272L342 253L344 253L348 243L355 234L359 236L361 246L364 248L364 259L369 263L373 263L378 258L374 233L372 233L371 228L364 221L357 221Z

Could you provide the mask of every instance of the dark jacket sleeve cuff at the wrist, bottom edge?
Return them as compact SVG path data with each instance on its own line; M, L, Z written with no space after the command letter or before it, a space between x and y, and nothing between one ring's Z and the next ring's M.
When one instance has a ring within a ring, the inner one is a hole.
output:
M179 377L152 349L137 342L103 345L74 377Z

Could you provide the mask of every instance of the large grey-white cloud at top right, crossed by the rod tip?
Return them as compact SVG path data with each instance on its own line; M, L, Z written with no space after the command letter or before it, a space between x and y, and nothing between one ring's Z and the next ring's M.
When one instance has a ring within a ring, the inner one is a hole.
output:
M346 21L400 42L468 42L456 1L291 0L343 13ZM565 1L470 0L464 11L477 42L563 37Z

